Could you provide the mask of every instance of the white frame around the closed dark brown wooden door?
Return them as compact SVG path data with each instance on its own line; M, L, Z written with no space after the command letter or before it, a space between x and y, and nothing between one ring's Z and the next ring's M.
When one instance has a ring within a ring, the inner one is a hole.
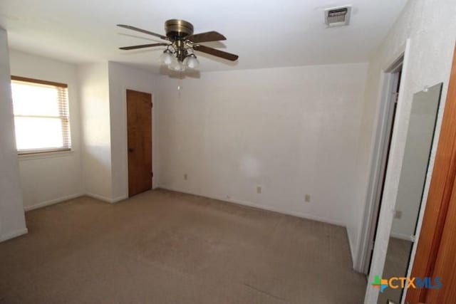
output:
M151 128L152 128L152 171L154 172L154 176L152 177L152 189L155 189L155 184L156 182L155 179L157 179L157 170L154 169L156 168L157 166L155 166L155 161L154 161L154 154L155 154L155 149L154 147L156 145L154 145L154 138L157 138L155 136L155 127L154 127L154 123L155 123L155 117L154 117L154 109L156 108L156 103L154 102L154 94L150 91L150 90L143 90L142 88L137 88L137 87L131 87L131 86L124 86L122 88L122 98L123 98L123 119L124 119L124 132L123 132L123 153L124 153L124 180L125 180L125 184L124 184L124 191L125 191L125 198L128 198L128 122L127 122L127 90L134 90L134 91L138 91L138 92L142 92L142 93L148 93L152 96L152 108L150 108L150 111L151 111L151 117L152 117L152 123L151 123ZM156 110L156 109L155 109Z

